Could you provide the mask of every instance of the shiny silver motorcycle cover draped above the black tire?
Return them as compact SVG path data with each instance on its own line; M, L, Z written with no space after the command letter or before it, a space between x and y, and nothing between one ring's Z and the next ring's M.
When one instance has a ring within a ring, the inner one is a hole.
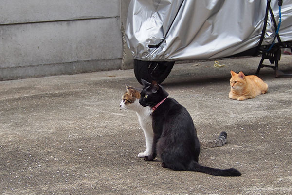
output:
M134 58L141 60L216 59L235 55L258 45L266 6L267 0L131 0L127 44ZM278 24L278 0L271 0L271 8ZM280 38L282 42L290 41L292 0L283 0L281 16ZM272 44L275 31L269 14L262 45ZM149 47L162 40L158 48Z

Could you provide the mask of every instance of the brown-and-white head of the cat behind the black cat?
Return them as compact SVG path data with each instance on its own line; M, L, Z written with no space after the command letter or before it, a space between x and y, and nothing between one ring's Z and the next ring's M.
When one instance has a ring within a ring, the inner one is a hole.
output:
M133 87L126 85L126 92L122 96L122 101L120 103L121 109L128 110L133 109L136 100L140 98L140 92Z

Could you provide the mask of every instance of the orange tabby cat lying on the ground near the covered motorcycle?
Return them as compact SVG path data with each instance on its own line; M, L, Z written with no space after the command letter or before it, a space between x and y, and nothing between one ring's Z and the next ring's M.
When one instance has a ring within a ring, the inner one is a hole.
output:
M245 76L242 71L238 74L230 71L230 92L229 98L239 101L255 98L257 95L268 91L268 85L255 75Z

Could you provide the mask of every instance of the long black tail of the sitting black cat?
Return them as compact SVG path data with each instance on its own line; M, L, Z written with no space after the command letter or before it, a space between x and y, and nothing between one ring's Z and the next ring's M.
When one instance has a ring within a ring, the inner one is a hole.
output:
M189 170L206 173L213 176L241 176L241 173L234 168L215 169L211 167L201 166L198 162L195 162L195 161L191 162Z

